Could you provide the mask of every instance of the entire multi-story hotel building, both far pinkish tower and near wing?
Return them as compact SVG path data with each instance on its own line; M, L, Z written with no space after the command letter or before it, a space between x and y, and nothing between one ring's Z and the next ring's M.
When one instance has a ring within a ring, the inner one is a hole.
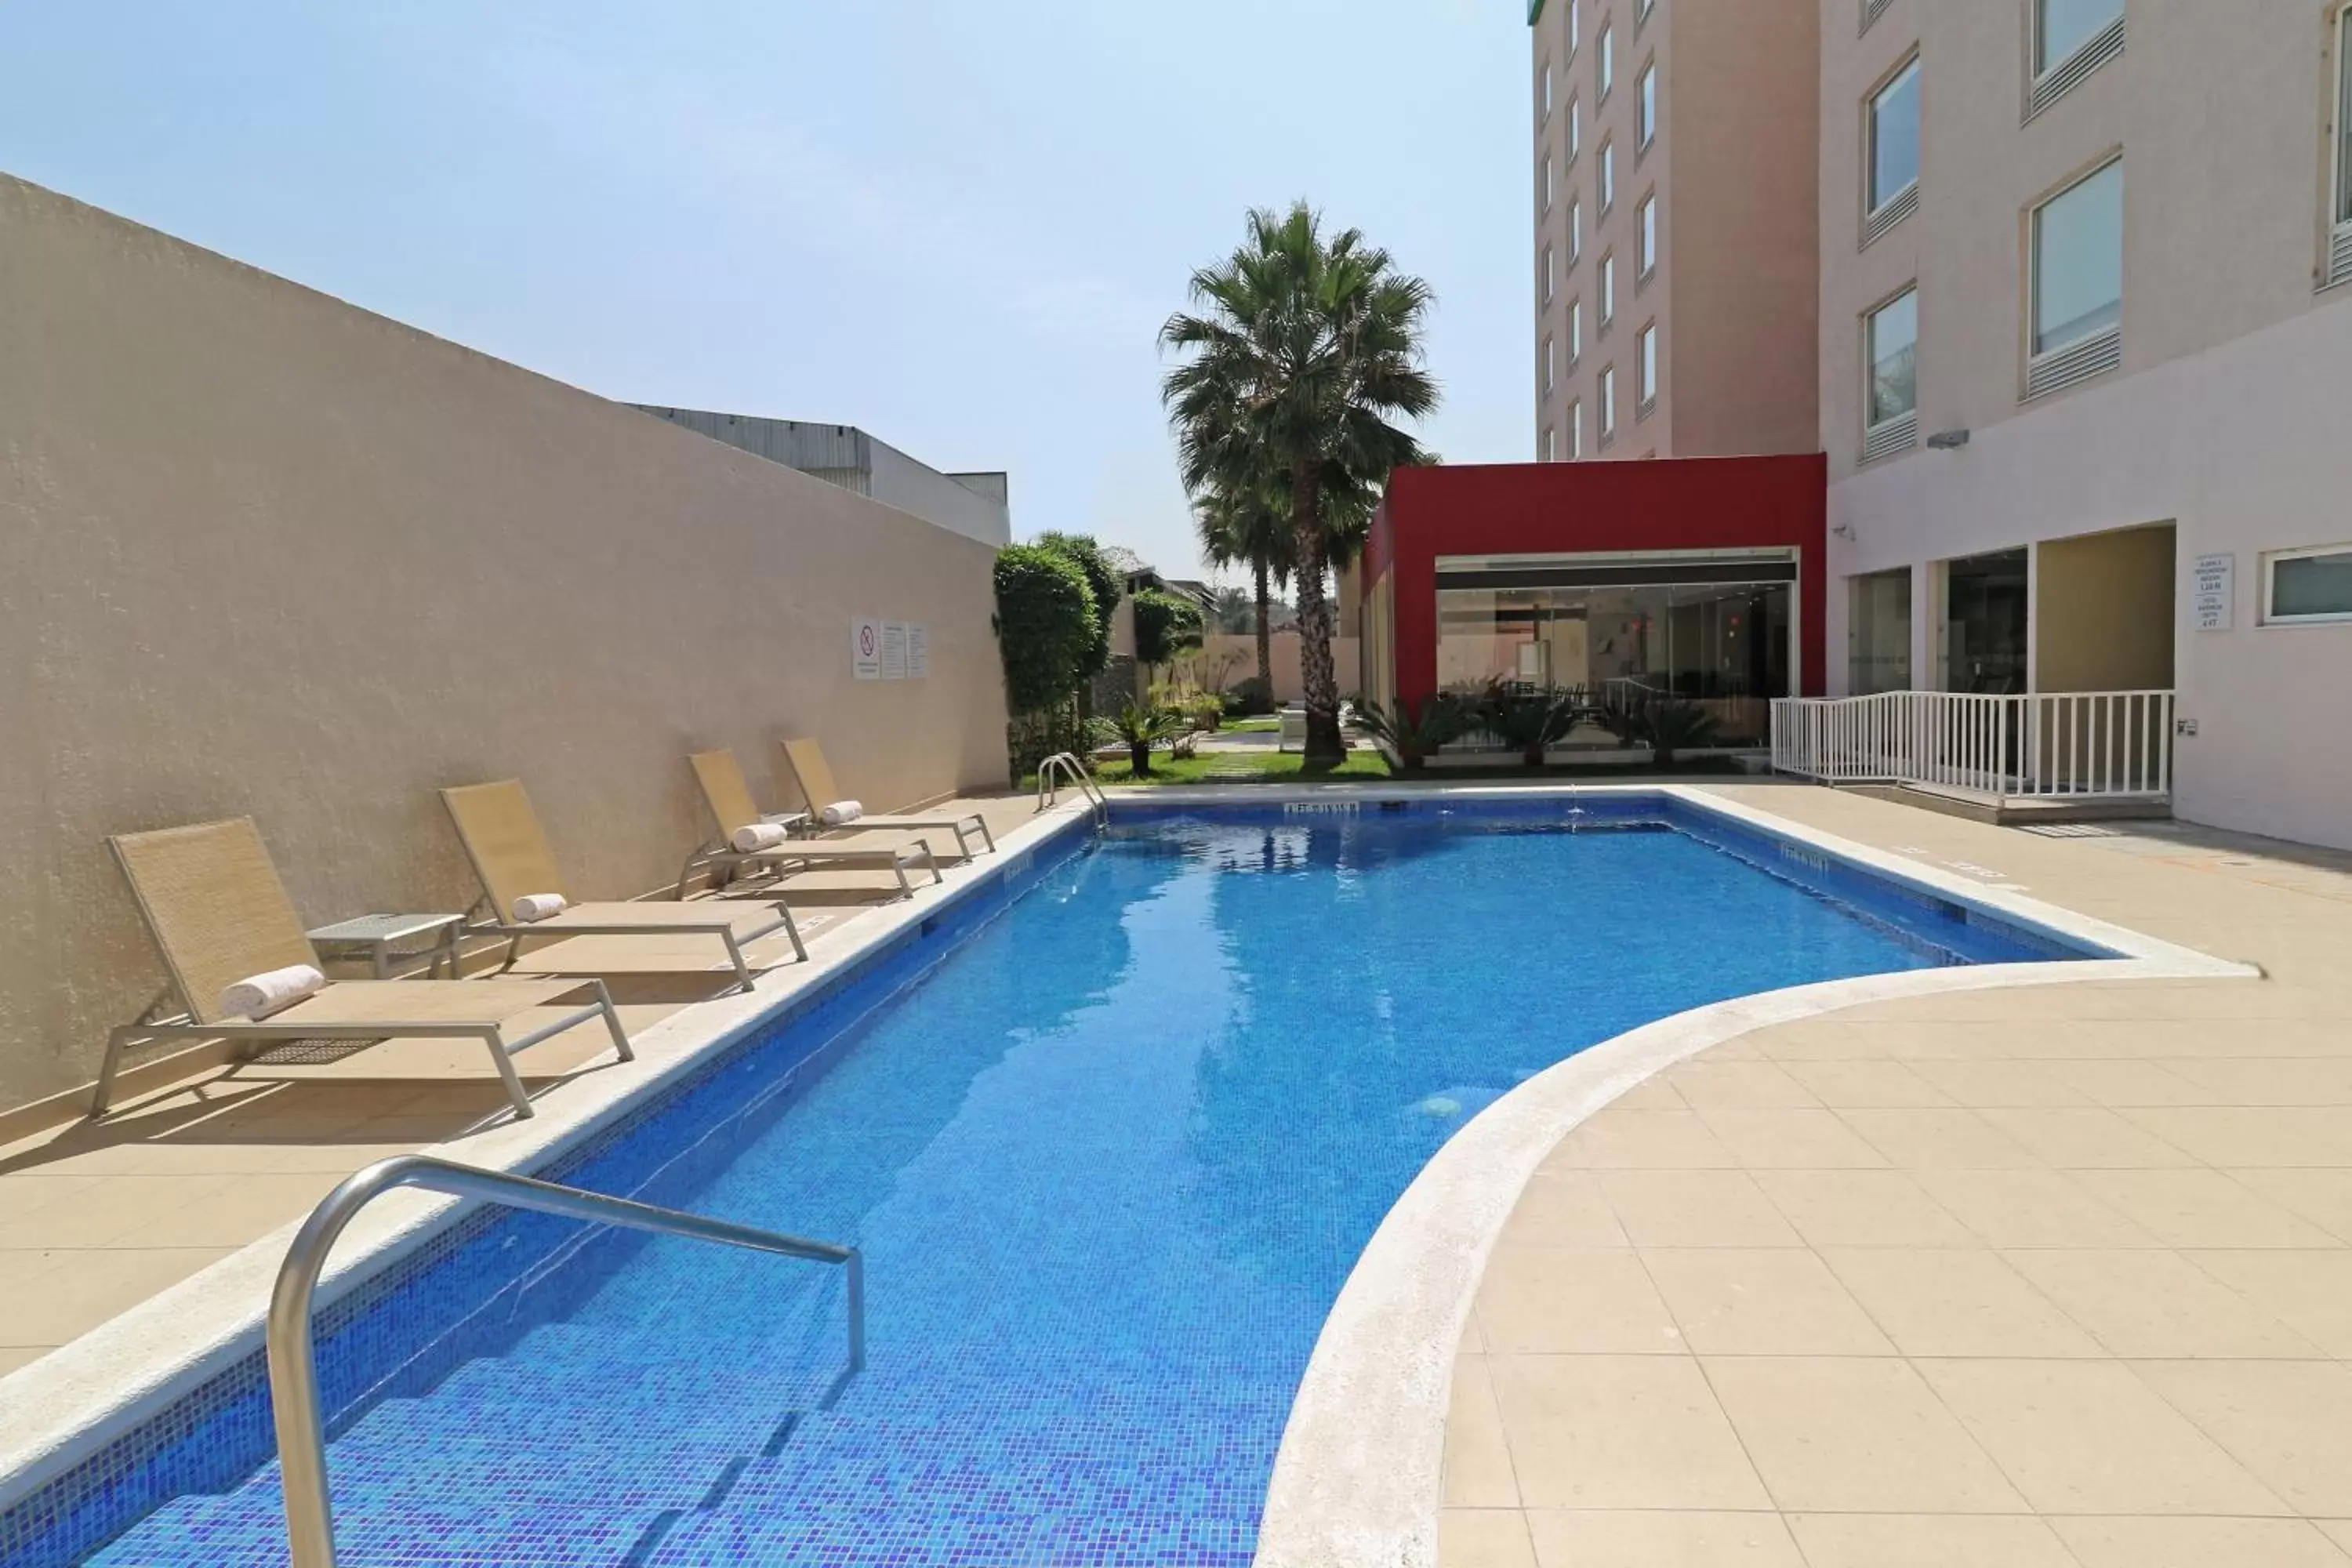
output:
M2352 844L2352 0L1538 0L1534 68L1538 458L1823 451L1832 693L2171 691L2178 816Z

